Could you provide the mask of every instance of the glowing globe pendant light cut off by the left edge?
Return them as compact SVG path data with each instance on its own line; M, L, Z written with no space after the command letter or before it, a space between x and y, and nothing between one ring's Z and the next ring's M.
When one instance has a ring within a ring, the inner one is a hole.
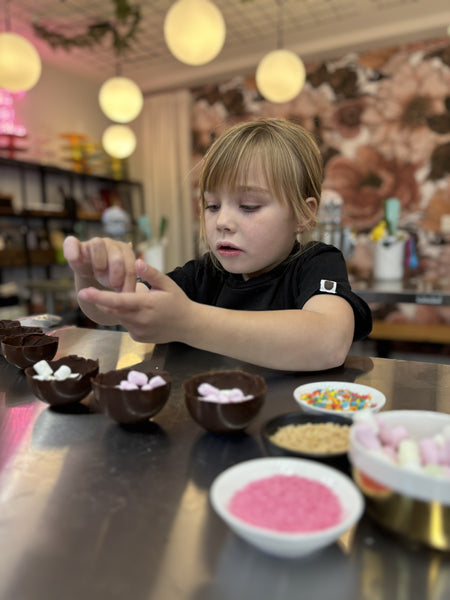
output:
M41 58L28 40L9 31L0 33L0 87L26 92L39 80Z

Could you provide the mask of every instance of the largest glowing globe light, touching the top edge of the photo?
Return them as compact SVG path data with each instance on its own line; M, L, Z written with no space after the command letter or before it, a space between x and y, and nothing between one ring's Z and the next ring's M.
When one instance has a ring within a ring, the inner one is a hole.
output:
M188 65L213 60L225 42L222 13L209 0L177 0L164 20L164 39L170 52Z

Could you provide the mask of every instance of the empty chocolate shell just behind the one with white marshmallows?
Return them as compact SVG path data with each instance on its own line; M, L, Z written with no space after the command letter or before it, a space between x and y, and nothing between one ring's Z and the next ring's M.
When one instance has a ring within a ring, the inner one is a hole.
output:
M40 360L51 360L58 350L59 338L45 333L21 333L3 338L1 348L6 360L19 369Z

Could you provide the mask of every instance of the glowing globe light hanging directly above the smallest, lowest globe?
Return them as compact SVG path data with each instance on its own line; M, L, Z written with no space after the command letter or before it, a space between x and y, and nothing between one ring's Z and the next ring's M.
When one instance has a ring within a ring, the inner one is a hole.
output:
M139 86L127 77L111 77L105 81L98 101L105 115L117 123L129 123L135 119L144 104Z

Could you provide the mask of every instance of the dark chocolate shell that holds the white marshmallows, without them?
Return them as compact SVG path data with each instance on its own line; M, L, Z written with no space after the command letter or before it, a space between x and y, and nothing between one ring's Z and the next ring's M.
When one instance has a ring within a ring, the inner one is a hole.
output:
M98 360L83 358L75 354L50 361L48 364L53 372L66 365L72 373L79 374L79 377L73 379L41 381L35 379L37 373L34 366L25 369L28 385L33 394L51 406L71 404L85 398L92 390L92 377L95 377L99 371Z

